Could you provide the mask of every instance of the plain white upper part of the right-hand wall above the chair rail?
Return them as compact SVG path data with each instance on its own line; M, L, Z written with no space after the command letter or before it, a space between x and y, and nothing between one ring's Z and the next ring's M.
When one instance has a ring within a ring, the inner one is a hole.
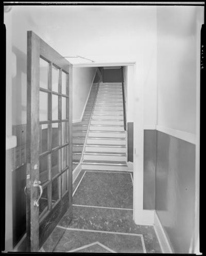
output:
M198 19L203 23L203 7L157 7L157 124L190 133L196 132Z

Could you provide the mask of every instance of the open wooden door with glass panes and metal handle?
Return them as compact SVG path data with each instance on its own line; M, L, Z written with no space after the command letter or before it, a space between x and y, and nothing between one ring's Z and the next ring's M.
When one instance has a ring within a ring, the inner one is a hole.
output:
M27 32L27 251L40 249L66 210L72 219L71 70Z

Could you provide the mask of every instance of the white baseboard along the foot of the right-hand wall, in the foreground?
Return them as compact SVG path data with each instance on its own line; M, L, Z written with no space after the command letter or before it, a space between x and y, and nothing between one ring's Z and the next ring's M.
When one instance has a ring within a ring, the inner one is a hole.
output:
M157 234L162 252L163 253L174 253L173 249L171 248L171 246L169 244L169 241L167 239L164 228L162 227L162 224L160 222L160 219L157 215L156 210L154 211L154 228L155 228L155 232Z

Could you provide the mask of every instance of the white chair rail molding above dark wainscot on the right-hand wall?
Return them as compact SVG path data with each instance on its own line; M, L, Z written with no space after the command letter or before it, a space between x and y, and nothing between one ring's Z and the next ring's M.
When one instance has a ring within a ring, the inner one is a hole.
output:
M196 134L157 125L157 131L164 132L183 141L196 144Z

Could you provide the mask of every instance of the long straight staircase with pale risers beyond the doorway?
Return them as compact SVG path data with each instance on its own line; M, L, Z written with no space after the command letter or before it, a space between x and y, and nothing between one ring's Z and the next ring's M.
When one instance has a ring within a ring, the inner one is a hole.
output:
M81 164L85 170L128 171L122 83L99 84Z

